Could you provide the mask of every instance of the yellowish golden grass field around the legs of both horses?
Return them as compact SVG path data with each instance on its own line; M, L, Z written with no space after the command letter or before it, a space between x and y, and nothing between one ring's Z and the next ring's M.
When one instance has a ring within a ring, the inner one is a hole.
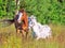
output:
M52 38L36 41L28 35L28 39L16 36L14 25L0 28L0 48L65 48L65 26L50 25Z

